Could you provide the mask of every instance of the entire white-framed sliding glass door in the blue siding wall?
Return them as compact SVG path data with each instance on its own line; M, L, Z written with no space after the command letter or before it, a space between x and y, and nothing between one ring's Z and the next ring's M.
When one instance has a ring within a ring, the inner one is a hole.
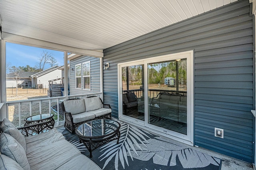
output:
M193 51L118 64L119 118L193 143Z

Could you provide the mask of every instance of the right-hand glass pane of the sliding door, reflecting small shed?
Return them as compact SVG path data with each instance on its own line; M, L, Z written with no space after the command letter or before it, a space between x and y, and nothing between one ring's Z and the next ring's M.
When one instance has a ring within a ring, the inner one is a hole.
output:
M187 135L187 60L148 63L148 123Z

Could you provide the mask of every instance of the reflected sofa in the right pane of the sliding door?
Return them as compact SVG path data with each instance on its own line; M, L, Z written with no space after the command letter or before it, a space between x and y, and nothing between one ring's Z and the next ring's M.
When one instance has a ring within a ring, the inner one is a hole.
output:
M186 96L160 92L150 102L150 115L186 123Z

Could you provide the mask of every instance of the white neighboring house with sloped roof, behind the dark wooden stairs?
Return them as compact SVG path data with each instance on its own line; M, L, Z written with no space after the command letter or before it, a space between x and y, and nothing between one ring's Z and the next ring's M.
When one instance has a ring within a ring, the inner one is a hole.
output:
M31 75L30 77L32 79L32 88L39 88L40 86L43 88L49 88L49 80L62 78L62 72L59 69L60 67L61 66L53 66ZM55 83L62 84L62 80L59 80L59 82L56 81Z

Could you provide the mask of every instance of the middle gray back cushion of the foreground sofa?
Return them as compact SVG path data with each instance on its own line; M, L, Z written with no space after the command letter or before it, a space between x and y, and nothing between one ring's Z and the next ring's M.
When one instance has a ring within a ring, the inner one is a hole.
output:
M15 160L24 170L30 170L24 148L7 133L0 135L0 150L2 154Z

